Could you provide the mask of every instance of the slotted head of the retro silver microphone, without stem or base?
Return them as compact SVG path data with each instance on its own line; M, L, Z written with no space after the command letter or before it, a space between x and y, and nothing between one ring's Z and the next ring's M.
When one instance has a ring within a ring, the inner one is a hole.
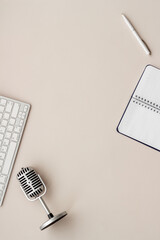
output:
M17 179L29 200L36 200L43 195L45 185L33 168L22 168L17 174Z

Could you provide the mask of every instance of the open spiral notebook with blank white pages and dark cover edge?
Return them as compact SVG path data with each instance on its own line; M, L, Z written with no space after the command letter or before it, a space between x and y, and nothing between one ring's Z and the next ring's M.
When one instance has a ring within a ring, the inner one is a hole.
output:
M145 67L117 131L160 151L160 69Z

